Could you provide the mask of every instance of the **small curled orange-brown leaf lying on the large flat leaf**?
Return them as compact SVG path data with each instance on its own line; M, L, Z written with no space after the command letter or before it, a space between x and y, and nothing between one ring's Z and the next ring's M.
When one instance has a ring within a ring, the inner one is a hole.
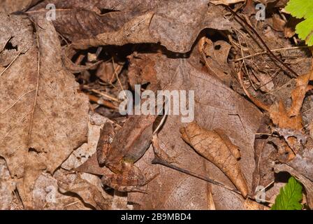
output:
M180 130L182 139L204 158L210 160L234 183L243 197L247 197L248 187L238 163L239 148L221 130L205 130L197 123L189 123Z

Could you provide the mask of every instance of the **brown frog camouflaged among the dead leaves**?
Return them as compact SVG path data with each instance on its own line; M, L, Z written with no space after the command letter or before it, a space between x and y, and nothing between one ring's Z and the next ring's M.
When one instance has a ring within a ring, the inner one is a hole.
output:
M100 165L105 165L114 174L105 175L101 181L106 186L123 192L139 191L152 179L147 180L134 163L149 148L152 141L152 126L157 116L131 116L115 134L111 123L101 130L96 153ZM115 136L114 136L115 135Z

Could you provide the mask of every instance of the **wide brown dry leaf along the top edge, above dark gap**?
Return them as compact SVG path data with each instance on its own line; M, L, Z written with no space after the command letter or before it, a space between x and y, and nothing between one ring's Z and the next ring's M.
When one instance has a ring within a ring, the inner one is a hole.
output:
M208 0L47 0L30 11L36 13L47 3L57 7L54 26L75 48L161 43L168 50L188 52L202 29L229 30L233 25L224 18L224 8L208 5Z

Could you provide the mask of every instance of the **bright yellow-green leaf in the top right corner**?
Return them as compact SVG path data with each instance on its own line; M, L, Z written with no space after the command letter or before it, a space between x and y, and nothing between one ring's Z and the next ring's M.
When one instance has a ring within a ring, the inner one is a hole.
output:
M313 1L312 0L290 0L285 10L294 17L301 19L296 26L296 33L308 46L313 45Z

